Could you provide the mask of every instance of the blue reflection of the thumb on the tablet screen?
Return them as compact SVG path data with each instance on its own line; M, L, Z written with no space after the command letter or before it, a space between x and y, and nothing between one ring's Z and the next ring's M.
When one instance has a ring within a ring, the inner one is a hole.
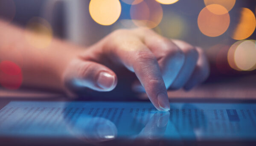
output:
M96 144L113 140L117 136L117 128L111 120L103 117L94 117L83 112L77 112L75 107L67 106L73 114L63 114L70 133L85 143Z

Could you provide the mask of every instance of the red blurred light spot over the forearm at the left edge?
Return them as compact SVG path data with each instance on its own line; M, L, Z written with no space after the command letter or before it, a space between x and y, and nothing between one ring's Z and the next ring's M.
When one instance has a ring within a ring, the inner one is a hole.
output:
M20 67L12 61L0 62L0 84L6 89L18 89L22 84L23 76Z

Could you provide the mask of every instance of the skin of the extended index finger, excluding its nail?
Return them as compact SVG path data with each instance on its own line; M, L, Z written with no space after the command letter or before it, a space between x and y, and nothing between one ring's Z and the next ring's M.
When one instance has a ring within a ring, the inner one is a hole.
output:
M166 94L166 100L168 97L155 55L143 44L140 37L130 31L119 30L109 39L103 46L105 51L108 51L106 54L115 54L115 58L118 58L127 69L135 72L153 105L161 110L157 95L162 92Z

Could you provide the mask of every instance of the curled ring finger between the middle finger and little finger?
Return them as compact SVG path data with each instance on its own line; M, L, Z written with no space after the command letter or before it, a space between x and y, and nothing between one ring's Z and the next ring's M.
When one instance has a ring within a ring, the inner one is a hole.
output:
M181 40L173 40L173 42L183 50L186 58L177 78L170 86L170 89L180 89L191 77L196 63L198 61L198 51L191 45Z

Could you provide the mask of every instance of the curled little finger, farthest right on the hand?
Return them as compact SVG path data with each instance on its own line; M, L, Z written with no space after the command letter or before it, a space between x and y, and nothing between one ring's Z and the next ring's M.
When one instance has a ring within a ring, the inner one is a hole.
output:
M184 89L187 91L192 89L193 86L204 82L204 80L209 77L210 73L209 61L207 60L206 54L201 48L196 47L196 49L198 50L199 58L194 72L184 86Z

